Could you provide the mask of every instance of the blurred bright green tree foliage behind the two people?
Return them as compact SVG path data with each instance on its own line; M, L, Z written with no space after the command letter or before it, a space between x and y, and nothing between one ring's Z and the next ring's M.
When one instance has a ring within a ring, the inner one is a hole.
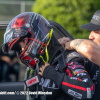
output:
M33 12L61 24L74 38L88 38L90 31L79 26L89 23L100 0L36 0Z

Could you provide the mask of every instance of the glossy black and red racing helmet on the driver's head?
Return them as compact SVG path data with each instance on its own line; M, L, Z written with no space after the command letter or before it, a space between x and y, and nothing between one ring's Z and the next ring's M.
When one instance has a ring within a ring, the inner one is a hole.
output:
M22 63L33 67L36 64L36 58L39 58L49 45L52 32L50 23L40 14L34 12L19 14L7 26L2 50L5 53L17 51ZM25 37L28 39L22 51L19 43Z

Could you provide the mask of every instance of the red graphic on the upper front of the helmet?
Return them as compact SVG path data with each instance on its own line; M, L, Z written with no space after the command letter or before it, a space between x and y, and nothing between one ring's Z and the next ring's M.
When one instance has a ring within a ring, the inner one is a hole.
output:
M29 15L26 13L24 13L20 16L17 16L14 19L11 28L22 27L23 25L25 25L28 22L28 19L29 19Z

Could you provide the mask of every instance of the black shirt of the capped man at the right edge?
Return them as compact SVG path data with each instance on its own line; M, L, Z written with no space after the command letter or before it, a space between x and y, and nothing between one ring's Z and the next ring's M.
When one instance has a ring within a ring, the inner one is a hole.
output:
M100 67L86 59L85 69L88 71L90 78L94 82L94 94L91 100L100 100Z

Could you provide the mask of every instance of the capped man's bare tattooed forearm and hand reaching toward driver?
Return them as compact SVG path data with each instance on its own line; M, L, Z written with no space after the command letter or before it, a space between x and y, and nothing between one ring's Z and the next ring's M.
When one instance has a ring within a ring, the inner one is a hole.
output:
M100 46L91 40L86 39L75 39L65 43L62 38L59 41L60 44L64 45L64 49L76 50L80 55L88 58L93 63L100 66Z

